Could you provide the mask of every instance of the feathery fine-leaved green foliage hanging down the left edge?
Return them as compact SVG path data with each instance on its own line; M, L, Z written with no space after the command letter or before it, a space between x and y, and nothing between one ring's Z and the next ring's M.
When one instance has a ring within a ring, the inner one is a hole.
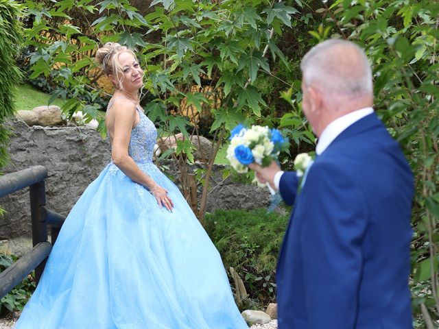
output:
M14 91L21 78L15 58L21 45L21 6L12 0L0 0L0 168L8 161L6 148L10 132L3 123L15 112Z

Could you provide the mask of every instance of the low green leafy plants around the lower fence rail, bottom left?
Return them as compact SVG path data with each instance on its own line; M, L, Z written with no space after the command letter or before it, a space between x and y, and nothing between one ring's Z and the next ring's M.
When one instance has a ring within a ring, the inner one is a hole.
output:
M0 272L4 271L16 261L15 256L0 254ZM35 291L34 273L29 274L25 280L17 284L8 295L0 300L0 314L12 312L14 310L23 310L23 307Z

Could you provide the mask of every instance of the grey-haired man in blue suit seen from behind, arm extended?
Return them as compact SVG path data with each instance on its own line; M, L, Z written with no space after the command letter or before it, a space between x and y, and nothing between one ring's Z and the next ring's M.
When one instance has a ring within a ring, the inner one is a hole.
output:
M366 55L352 42L327 40L301 69L316 159L302 178L275 163L250 165L294 205L277 266L278 328L412 328L414 180L372 109Z

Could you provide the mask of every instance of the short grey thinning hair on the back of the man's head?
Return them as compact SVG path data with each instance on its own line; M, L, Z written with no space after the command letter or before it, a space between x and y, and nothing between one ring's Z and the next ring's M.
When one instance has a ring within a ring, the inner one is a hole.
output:
M366 53L355 43L330 39L313 47L300 63L306 86L355 97L372 95L372 70Z

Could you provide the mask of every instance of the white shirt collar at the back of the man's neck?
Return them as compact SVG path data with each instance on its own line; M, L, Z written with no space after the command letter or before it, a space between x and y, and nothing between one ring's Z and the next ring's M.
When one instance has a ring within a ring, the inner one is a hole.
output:
M326 128L324 128L316 146L316 154L320 156L325 149L340 135L347 127L363 119L366 115L372 114L373 108L361 108L344 116L335 119Z

